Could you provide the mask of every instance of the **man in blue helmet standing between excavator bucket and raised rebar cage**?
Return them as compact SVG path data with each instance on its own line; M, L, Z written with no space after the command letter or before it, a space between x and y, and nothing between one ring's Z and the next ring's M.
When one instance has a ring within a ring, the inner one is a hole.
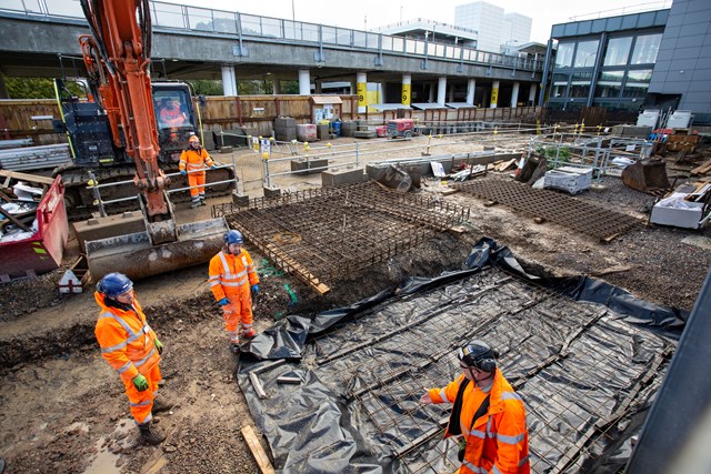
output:
M239 231L224 234L224 248L210 260L210 290L222 306L224 329L230 335L231 350L240 352L240 335L252 339L252 293L259 292L259 276L252 258L242 249L244 240ZM240 327L241 326L241 327Z

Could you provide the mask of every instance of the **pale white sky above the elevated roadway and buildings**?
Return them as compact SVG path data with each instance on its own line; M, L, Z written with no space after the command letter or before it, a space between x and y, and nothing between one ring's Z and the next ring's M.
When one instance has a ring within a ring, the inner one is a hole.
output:
M454 7L467 0L160 0L170 3L239 11L262 17L296 18L297 21L351 29L373 29L422 18L454 24ZM505 13L533 19L531 41L545 43L551 26L591 18L614 17L671 7L671 0L489 0ZM293 7L293 9L292 9Z

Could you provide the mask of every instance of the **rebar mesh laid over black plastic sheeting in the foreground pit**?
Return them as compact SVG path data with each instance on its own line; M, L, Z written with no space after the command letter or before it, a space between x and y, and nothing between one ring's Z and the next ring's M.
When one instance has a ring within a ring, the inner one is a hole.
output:
M532 472L545 473L602 462L671 351L603 306L488 269L318 337L312 357L319 380L367 417L359 435L385 446L395 471L453 472L457 450L442 441L451 405L418 400L459 375L454 349L473 336L501 352L527 406Z

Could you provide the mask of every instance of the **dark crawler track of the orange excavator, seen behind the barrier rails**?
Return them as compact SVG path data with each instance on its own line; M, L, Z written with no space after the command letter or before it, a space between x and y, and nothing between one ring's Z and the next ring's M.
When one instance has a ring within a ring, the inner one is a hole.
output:
M178 163L161 163L161 169L166 174L177 173ZM94 204L96 198L93 190L87 186L90 181L89 172L93 172L94 179L99 184L109 184L121 181L133 180L136 167L133 164L117 165L111 168L88 169L71 167L59 171L57 174L62 175L64 183L64 201L67 204L67 216L70 222L90 219L99 211L99 206ZM211 182L232 180L231 183L216 184L209 186ZM183 177L171 177L170 189L187 188L188 180ZM231 168L220 168L218 170L207 171L206 193L210 198L228 195L234 189L234 171ZM117 186L101 188L101 200L112 201L121 198L130 198L138 194L138 190L133 184L122 184ZM180 191L170 193L170 201L173 204L190 202L190 192ZM138 200L127 200L117 203L104 203L107 214L120 214L127 211L136 211L139 209Z

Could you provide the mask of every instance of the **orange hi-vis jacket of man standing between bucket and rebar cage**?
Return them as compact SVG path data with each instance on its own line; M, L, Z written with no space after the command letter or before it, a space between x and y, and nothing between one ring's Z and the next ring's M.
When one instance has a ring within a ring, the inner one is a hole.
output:
M259 283L252 258L244 249L237 255L221 250L210 260L209 273L210 291L218 301L241 292L249 294L250 288Z

